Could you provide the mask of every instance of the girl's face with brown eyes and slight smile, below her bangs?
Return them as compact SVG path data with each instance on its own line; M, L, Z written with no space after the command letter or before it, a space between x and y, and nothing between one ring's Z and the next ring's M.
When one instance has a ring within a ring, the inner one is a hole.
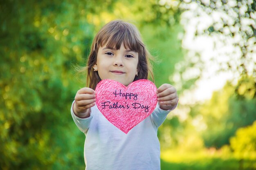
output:
M112 79L128 86L137 74L139 55L121 45L119 50L99 47L97 62L93 66L101 79Z

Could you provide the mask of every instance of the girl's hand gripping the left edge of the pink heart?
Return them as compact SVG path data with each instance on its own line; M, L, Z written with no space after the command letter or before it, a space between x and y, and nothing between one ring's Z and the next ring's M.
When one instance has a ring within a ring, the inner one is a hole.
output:
M75 96L73 106L76 116L86 118L90 116L91 107L95 105L95 91L92 88L81 88Z

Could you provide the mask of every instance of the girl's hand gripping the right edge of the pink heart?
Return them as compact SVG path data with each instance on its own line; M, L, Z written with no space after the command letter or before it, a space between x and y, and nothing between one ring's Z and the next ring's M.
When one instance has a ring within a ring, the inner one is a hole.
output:
M163 84L157 91L157 101L162 110L170 110L176 107L178 103L178 95L176 88L171 84Z

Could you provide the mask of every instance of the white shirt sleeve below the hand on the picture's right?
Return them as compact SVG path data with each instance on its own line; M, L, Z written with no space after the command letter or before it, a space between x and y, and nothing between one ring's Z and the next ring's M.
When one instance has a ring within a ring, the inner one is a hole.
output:
M153 123L155 124L155 126L157 126L157 128L159 126L162 125L162 123L164 122L164 120L166 119L168 113L170 113L172 110L174 110L177 107L178 103L176 104L175 107L173 107L170 110L162 110L159 107L159 104L157 103L157 106L155 107L155 110L153 111L153 113L150 115L151 120L153 121Z

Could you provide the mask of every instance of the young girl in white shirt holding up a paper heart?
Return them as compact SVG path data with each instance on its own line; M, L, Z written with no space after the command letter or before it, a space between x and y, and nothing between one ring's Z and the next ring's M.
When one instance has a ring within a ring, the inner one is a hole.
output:
M77 91L71 114L85 133L86 170L160 170L157 129L177 106L176 89L160 86L153 113L125 134L112 125L95 105L95 87L102 79L128 86L138 79L153 78L150 54L133 24L115 20L97 33L88 58L87 85Z

